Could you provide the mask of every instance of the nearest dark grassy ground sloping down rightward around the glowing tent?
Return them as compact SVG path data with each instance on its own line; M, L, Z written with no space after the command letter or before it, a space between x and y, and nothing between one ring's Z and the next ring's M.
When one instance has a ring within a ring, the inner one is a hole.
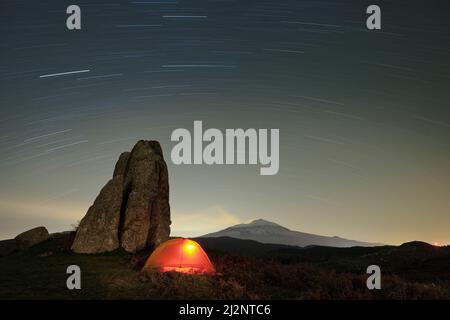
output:
M419 283L383 275L382 290L366 275L314 263L280 263L212 254L216 276L142 273L146 253L74 254L69 239L0 258L0 299L449 299L448 283ZM78 265L82 290L66 288L66 269Z

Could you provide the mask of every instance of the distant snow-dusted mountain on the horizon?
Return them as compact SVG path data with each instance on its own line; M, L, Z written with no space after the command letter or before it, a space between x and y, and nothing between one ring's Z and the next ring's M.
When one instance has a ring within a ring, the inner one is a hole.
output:
M237 224L226 229L208 233L203 238L231 237L237 239L248 239L262 243L283 244L299 247L327 246L327 247L372 247L379 246L378 243L348 240L340 237L319 236L300 231L289 230L274 222L257 219L250 223Z

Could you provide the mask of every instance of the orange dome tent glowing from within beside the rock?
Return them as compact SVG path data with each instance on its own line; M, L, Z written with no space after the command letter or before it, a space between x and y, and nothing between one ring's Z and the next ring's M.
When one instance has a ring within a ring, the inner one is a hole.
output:
M144 270L214 274L214 267L194 240L178 238L161 243L145 262Z

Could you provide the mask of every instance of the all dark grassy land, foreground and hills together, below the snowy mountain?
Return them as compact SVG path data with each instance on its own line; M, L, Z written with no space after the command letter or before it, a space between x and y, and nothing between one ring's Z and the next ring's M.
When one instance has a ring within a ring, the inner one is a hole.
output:
M439 263L444 266L449 262L448 250L444 248L438 253L430 252L434 248L417 249L412 245L366 250L267 245L264 249L265 245L253 243L259 249L253 251L256 255L249 255L252 243L245 240L237 240L244 241L241 244L228 241L229 247L240 246L243 250L237 254L226 249L226 239L215 244L200 239L219 273L210 277L144 274L140 269L148 255L146 252L74 254L68 250L70 238L53 238L26 251L1 257L0 299L450 298L449 278L446 278L449 271L441 270L437 275L442 279L430 280L436 277L433 272L439 269L436 267ZM383 265L391 265L396 270L402 270L405 261L414 266L412 259L418 268L405 277L401 272L389 270L383 274L382 290L370 291L366 288L365 267L380 259ZM82 270L82 290L66 288L66 268L71 264Z

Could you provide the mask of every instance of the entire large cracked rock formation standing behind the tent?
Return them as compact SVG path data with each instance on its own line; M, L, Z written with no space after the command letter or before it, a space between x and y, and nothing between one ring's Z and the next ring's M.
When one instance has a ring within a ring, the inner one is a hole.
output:
M103 187L78 227L78 253L128 252L154 247L170 233L169 175L157 141L139 141L120 155L113 178Z

